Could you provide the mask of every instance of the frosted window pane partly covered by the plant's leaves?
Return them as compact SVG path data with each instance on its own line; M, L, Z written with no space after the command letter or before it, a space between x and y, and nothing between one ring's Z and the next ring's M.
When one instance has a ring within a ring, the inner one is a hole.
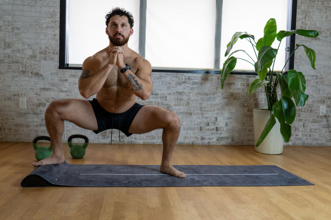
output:
M263 9L263 7L266 9ZM287 29L287 0L223 0L221 65L225 61L226 45L235 32L247 31L255 36L257 42L259 38L263 37L263 28L271 17L276 19L277 32ZM279 41L275 39L272 47L277 48L278 44ZM281 69L285 64L285 46L286 40L283 39L278 50L274 70ZM244 48L252 57L255 57L252 47L245 39L239 39L232 51L239 48ZM244 57L244 53L235 53L234 56ZM254 66L246 61L237 60L236 69L253 70Z

